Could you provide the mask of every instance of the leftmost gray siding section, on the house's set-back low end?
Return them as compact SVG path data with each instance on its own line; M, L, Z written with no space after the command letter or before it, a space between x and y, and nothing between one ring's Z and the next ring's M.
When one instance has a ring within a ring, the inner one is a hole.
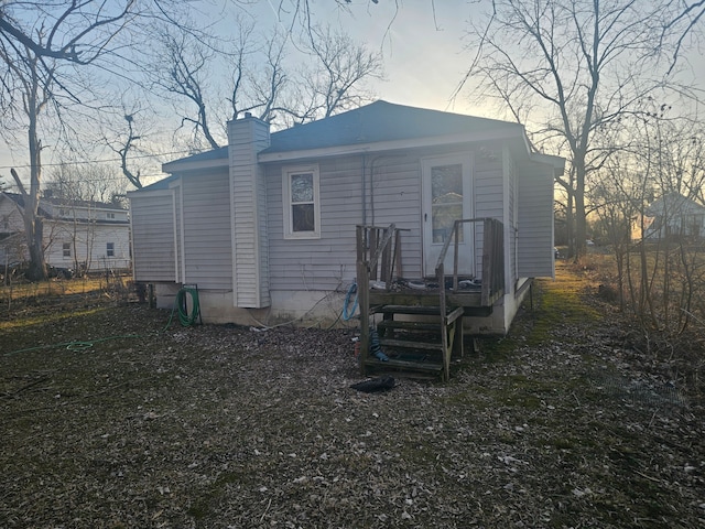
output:
M130 195L135 281L174 281L174 209L170 191Z

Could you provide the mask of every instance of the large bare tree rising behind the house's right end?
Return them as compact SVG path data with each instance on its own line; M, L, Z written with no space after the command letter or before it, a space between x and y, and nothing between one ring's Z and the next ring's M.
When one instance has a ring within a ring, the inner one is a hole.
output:
M574 180L560 183L574 202L577 255L585 247L594 138L660 86L647 60L654 56L660 9L642 0L495 0L475 26L464 84L479 78L480 97L499 94L513 115L525 109L567 151Z

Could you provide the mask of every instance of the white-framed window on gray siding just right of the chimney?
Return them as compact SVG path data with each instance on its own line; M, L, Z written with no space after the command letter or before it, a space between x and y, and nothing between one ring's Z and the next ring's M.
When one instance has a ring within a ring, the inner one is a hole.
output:
M283 173L284 237L321 237L318 168L285 169Z

